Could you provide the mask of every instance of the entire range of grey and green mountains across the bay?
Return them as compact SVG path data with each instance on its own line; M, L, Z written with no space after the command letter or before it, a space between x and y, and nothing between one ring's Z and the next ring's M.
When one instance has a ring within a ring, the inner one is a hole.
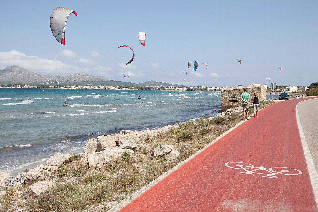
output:
M7 66L0 70L1 84L59 84L59 85L96 85L96 86L182 86L172 85L167 82L146 81L142 83L122 82L108 80L100 76L92 76L89 74L71 74L66 77L50 76L46 74L37 74L32 71L21 68L17 65Z

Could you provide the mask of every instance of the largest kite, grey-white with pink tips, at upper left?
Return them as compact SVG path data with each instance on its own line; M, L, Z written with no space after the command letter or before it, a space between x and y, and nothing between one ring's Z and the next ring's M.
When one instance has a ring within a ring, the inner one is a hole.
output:
M77 16L77 13L73 10L57 7L53 10L50 18L50 26L53 36L61 44L65 45L65 26L68 16L74 13Z

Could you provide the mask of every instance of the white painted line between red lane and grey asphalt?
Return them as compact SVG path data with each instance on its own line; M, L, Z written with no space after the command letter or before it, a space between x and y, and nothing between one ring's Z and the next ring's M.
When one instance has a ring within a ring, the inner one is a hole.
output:
M308 100L310 100L310 99L307 99L307 100L304 100L301 102L305 102ZM307 144L307 140L306 140L304 131L302 130L300 119L299 119L298 104L301 102L298 102L296 104L296 120L297 120L299 135L300 135L300 139L301 139L302 149L304 151L304 155L305 155L305 159L306 159L306 163L307 163L307 168L308 168L308 172L309 172L311 186L313 187L314 196L315 196L315 200L316 200L316 204L317 204L318 203L318 175L317 175L315 164L314 164L313 158L311 157L309 147Z

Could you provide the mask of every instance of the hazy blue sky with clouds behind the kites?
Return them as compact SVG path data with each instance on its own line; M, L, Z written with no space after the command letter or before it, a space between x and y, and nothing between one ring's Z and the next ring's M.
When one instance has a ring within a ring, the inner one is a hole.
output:
M78 14L67 20L66 45L50 29L56 7ZM269 77L308 86L318 81L317 11L318 1L293 0L0 1L0 69L210 87L266 84ZM145 46L138 32L147 33ZM135 52L128 65L132 52L122 45ZM196 71L188 61L199 63Z

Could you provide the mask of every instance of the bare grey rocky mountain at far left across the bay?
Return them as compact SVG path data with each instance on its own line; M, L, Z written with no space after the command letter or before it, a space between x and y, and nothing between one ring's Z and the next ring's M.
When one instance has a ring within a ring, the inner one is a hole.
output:
M16 83L37 83L37 84L61 84L73 83L81 81L107 81L106 78L100 76L92 76L89 74L72 74L66 77L41 75L25 70L17 65L7 66L0 71L0 83L16 84Z

